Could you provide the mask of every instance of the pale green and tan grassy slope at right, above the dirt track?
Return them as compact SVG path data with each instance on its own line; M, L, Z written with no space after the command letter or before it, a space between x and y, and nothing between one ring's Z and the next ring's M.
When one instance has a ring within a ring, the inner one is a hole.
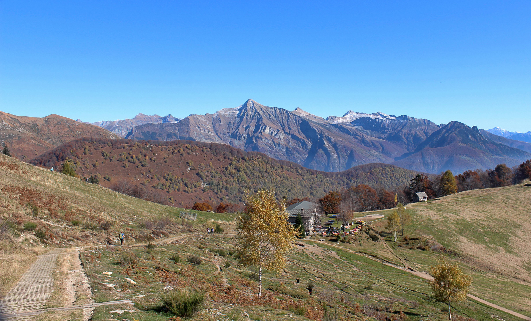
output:
M531 188L524 184L469 190L427 203L406 206L413 223L406 235L434 239L449 249L474 276L472 293L520 313L531 312ZM392 210L380 211L389 214ZM384 230L386 220L375 223ZM395 254L421 271L429 271L436 252L396 247ZM380 249L385 255L386 250ZM389 251L387 251L389 255ZM395 259L389 255L389 259Z

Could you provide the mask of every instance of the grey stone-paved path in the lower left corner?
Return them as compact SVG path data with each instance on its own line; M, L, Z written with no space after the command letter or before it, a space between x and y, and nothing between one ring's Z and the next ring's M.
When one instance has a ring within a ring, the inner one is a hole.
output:
M0 313L13 313L41 309L54 290L54 271L57 267L57 255L62 249L49 251L40 255L28 271L22 275L20 281L2 300ZM25 320L16 318L12 320Z

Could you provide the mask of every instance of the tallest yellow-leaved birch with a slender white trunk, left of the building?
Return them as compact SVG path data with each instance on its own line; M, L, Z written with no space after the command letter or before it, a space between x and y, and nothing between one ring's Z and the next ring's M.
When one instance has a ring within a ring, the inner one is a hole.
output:
M258 296L262 296L262 268L279 272L297 232L287 221L284 202L277 203L270 190L247 194L245 213L238 217L238 253L244 265L256 265Z

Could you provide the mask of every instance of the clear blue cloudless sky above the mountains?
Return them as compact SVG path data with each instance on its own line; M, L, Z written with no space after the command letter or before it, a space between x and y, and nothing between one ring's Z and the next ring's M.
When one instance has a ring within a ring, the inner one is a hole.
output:
M0 1L0 110L95 122L246 99L531 130L530 1Z

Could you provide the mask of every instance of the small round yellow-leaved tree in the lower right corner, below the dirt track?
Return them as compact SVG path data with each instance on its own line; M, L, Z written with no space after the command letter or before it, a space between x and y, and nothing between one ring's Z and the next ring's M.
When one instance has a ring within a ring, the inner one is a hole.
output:
M430 281L435 300L448 302L448 318L452 319L451 303L466 299L468 287L472 284L472 277L466 275L457 263L450 263L442 259L431 268L434 280Z

